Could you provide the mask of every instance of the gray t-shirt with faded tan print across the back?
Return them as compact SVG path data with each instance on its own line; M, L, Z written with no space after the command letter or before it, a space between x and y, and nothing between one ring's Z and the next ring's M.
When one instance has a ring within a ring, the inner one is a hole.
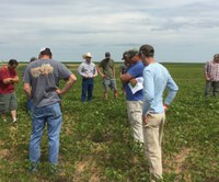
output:
M31 84L33 103L36 107L42 107L60 101L55 90L58 89L60 79L68 79L71 75L59 61L38 59L27 66L23 82Z

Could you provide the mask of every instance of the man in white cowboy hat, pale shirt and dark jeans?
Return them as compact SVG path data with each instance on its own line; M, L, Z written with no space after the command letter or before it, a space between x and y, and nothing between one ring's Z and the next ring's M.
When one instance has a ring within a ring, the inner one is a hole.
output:
M79 66L78 73L82 77L81 102L85 102L91 101L93 98L93 78L97 76L97 70L95 64L91 61L91 53L87 53L82 57L85 60Z

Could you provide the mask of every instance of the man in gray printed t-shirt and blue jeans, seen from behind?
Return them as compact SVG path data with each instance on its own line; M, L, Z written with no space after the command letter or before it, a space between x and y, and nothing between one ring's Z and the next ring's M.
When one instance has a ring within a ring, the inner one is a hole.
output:
M59 133L62 123L60 95L65 94L76 82L76 76L59 61L53 60L49 48L39 54L41 59L31 62L25 69L24 92L33 100L32 134L30 139L30 172L37 170L41 158L39 143L45 125L48 129L48 161L50 169L56 169L59 152ZM59 80L66 80L59 89Z

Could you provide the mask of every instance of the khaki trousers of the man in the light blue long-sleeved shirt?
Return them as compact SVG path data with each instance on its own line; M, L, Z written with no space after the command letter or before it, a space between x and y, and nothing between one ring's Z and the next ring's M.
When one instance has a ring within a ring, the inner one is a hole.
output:
M161 141L165 114L147 114L147 124L143 124L145 153L149 162L151 178L162 179L162 149Z

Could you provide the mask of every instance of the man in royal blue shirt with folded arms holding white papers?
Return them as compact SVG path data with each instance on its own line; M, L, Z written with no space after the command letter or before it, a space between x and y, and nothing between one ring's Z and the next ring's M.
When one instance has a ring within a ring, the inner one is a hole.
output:
M126 73L120 76L120 81L126 91L126 104L128 121L132 130L134 139L140 144L143 143L142 134L142 87L134 92L132 87L137 83L137 79L142 79L143 64L138 56L137 49L130 49L124 54L125 60L129 67Z

